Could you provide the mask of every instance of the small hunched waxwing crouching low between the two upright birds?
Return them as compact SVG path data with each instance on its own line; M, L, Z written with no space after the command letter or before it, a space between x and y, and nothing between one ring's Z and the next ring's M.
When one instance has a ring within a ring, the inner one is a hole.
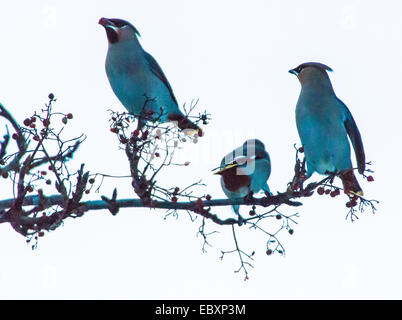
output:
M223 192L229 199L244 198L260 190L271 195L267 184L271 174L271 160L260 140L247 140L227 154L214 174L221 176ZM233 206L233 210L241 217L239 208L239 205Z

